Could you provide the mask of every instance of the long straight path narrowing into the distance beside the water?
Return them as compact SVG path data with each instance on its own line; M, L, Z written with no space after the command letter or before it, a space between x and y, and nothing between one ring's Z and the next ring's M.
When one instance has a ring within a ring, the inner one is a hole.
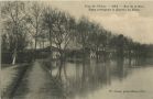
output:
M51 80L50 75L42 68L36 61L26 72L22 82L20 84L14 99L58 99L55 98L61 94Z

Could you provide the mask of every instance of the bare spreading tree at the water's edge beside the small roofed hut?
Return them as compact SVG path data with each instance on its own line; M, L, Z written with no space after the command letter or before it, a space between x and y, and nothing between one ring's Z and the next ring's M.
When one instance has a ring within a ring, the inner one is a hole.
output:
M53 26L53 43L58 48L62 58L64 57L64 51L72 40L75 24L75 19L68 13L56 11L55 24Z

